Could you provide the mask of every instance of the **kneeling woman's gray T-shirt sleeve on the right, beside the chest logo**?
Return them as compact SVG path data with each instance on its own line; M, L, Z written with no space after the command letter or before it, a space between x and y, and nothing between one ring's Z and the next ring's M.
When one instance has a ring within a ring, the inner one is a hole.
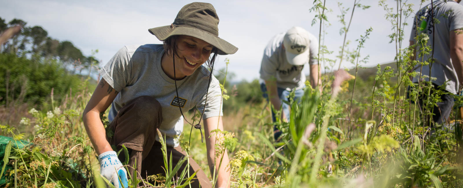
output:
M220 85L217 78L214 76L211 79L211 84L209 85L209 91L204 95L196 104L196 108L202 112L204 109L203 119L207 119L214 116L223 116L222 112L222 95L221 95ZM206 108L204 108L204 103L206 102Z

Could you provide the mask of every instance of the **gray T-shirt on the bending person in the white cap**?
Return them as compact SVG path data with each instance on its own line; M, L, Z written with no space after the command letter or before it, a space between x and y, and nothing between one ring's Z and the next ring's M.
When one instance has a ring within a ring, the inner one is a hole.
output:
M304 88L306 75L302 72L304 65L292 65L286 59L286 53L283 49L283 37L286 33L280 33L270 39L269 44L263 51L262 64L260 69L260 78L268 80L276 78L276 86L284 89ZM309 64L318 64L318 41L315 36L309 33Z

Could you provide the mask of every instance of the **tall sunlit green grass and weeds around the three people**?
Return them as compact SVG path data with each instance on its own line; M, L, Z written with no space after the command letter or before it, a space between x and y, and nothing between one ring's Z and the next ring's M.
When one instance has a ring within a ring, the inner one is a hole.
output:
M414 15L410 4L401 0L395 2L392 7L385 1L379 2L393 29L389 37L396 44L395 66L378 65L376 74L366 80L361 79L360 75L354 78L342 69L321 75L322 92L306 83L300 103L290 100L290 122L272 122L272 107L262 100L260 94L254 93L252 100L245 105L243 101L233 100L248 99L243 95L250 93L232 89L225 82L225 69L221 89L225 98L230 97L230 100L223 100L224 108L229 112L223 117L226 131L214 130L213 134L222 138L215 145L219 151L217 153L226 151L231 156L227 164L232 175L229 182L231 187L463 186L461 117L454 112L448 126L437 125L431 129L426 124L429 115L433 113L430 104L438 101L439 95L443 93L439 93L429 83L415 84L411 77L421 76L413 68L429 64L423 55L429 53L432 47L425 45L426 36L422 35L419 35L417 44L411 48L402 44L406 20ZM361 58L360 50L363 43L368 43L366 39L373 31L368 29L365 35L358 38L355 51L347 50L350 44L345 38L350 23L356 21L352 19L354 9L357 7L355 10L361 11L358 7L368 7L354 0L350 21L346 23L345 14L349 9L341 4L338 6L344 42L336 60L325 58L325 55L332 52L327 46L320 45L319 62L333 64L347 59L355 64L357 74L362 59L368 60L365 59L368 56ZM327 35L324 25L329 19L325 10L329 9L320 0L315 0L311 9L317 13L314 23L320 21L320 44L324 43L322 38ZM409 58L413 48L419 52L419 61ZM232 61L227 60L228 63L233 66ZM257 85L255 82L247 84L246 87ZM431 102L420 110L418 97L430 91L433 91L433 95L426 100ZM29 118L24 118L20 125L0 126L5 135L13 137L13 147L9 149L11 154L4 158L9 168L1 175L6 177L6 186L106 186L107 182L98 174L96 155L80 119L89 96L88 90L82 89L72 97L69 96L69 99L62 100L62 104L52 102L52 106L58 108L50 112L30 110L24 115ZM461 97L456 99L457 106L463 105ZM185 115L192 119L196 117L193 113ZM274 125L282 131L282 139L278 142L272 136ZM34 128L31 133L22 134L16 129L20 126ZM215 184L217 175L215 171L207 170L206 145L201 143L200 132L191 132L188 126L178 138L188 153L182 162L188 164L189 157L193 158ZM429 135L431 130L435 133ZM31 144L18 149L15 143L21 140L28 140ZM152 175L144 180L137 179L137 175L130 175L130 187L188 187L194 174L168 164L167 155L164 155L163 160L164 175ZM172 176L177 171L182 174L180 179Z

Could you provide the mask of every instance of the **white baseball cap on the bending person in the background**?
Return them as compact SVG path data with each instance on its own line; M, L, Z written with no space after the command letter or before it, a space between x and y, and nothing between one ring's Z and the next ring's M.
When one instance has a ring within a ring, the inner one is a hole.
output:
M303 65L309 62L309 32L294 26L289 29L284 38L283 45L286 51L286 59L292 65Z

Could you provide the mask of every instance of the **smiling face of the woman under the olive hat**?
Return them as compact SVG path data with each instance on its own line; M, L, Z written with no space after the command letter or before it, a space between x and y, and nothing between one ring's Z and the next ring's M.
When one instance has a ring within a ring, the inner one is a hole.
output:
M213 45L199 38L187 35L178 36L175 43L178 49L178 56L175 56L172 53L163 56L162 67L169 77L174 78L172 58L175 58L176 79L192 75L196 69L207 61L213 50Z

